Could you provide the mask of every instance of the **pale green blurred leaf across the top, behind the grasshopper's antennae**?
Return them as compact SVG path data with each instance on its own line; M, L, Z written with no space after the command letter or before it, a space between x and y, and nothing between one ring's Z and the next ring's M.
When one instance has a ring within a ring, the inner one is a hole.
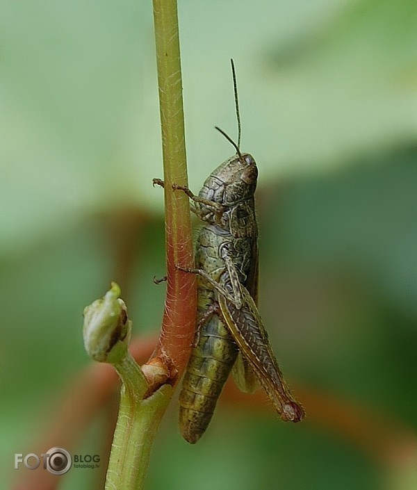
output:
M3 3L0 253L92 209L162 213L151 9ZM191 187L233 151L213 131L236 134L231 56L261 183L415 139L415 13L411 0L181 2Z

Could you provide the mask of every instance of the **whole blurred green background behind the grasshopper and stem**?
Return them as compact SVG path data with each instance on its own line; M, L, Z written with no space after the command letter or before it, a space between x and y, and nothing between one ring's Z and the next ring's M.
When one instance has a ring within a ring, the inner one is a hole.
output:
M117 279L135 334L158 332L165 288L152 278L165 259L150 1L3 0L0 12L8 487L14 453L90 362L83 307ZM415 441L417 3L180 0L179 24L195 191L233 153L213 126L236 135L236 63L242 149L260 174L260 310L295 393L363 407ZM79 452L101 451L102 416ZM220 407L188 446L173 402L147 488L414 489L407 468L311 418L286 425L241 406ZM99 488L85 471L61 478Z

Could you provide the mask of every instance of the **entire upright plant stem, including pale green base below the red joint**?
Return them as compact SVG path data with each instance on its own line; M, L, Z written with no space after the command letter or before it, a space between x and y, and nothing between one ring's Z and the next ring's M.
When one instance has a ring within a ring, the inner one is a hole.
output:
M154 0L154 24L165 181L167 299L161 336L152 358L163 361L170 375L169 384L149 395L149 387L145 389L142 384L143 373L130 354L115 364L123 386L106 490L143 488L154 436L173 386L186 367L195 327L195 277L175 267L193 267L188 197L172 191L172 183L188 184L176 0ZM145 393L149 396L142 400Z

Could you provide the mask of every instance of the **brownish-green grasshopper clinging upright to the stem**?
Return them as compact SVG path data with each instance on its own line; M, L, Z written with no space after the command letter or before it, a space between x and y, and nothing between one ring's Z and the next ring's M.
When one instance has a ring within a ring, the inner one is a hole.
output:
M210 423L230 372L242 391L263 386L282 420L298 422L304 411L293 398L268 341L258 301L258 228L254 192L258 169L252 155L240 152L240 114L234 81L238 143L216 126L236 149L204 181L198 195L173 185L193 201L204 222L195 252L197 319L193 349L179 395L179 427L196 443ZM159 181L158 183L161 183Z

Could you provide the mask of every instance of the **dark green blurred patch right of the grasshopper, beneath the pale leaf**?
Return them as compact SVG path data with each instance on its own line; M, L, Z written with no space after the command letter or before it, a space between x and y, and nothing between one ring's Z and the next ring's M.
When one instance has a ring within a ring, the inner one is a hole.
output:
M261 314L282 365L415 427L417 153L270 187Z

